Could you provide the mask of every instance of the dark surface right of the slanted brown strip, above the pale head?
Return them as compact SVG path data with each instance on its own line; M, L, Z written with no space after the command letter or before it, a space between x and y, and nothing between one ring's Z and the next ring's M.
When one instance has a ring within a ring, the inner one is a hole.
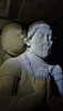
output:
M63 0L23 0L19 20L31 23L39 20L51 21L63 12Z

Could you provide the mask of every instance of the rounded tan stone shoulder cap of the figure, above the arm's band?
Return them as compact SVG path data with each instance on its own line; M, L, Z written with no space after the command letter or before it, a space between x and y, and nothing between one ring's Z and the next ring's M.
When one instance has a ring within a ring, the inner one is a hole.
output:
M21 74L20 71L21 71L20 62L15 58L12 58L4 61L0 67L0 77L2 75L20 77Z

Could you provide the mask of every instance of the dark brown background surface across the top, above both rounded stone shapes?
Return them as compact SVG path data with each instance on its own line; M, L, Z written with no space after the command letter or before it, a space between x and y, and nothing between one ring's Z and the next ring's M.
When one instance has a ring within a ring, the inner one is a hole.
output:
M17 19L21 23L39 20L52 21L61 17L63 0L1 0L0 16Z

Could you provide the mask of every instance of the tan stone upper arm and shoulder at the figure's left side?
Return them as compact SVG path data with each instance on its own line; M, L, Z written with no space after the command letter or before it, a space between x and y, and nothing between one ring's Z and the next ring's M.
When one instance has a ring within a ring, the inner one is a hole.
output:
M20 63L12 58L3 62L0 68L0 94L14 94L17 81L21 78ZM15 83L14 83L15 82Z

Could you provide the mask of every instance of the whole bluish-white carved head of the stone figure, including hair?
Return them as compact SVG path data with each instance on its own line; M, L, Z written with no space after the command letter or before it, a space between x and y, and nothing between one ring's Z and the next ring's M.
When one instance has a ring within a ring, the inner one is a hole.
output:
M36 23L28 32L27 44L42 59L45 59L52 46L52 30L46 23Z

